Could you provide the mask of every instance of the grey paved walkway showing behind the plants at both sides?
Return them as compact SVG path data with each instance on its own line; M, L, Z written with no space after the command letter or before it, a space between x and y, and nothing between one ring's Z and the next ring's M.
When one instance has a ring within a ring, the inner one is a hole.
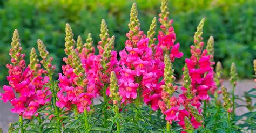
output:
M231 85L229 84L228 80L225 80L223 85L225 85L229 91L231 90ZM241 97L245 91L248 91L255 86L256 84L253 80L241 80L237 84L235 94ZM0 92L2 93L3 90L1 89ZM255 102L256 99L253 99L253 103ZM241 104L241 102L239 102L239 104ZM10 108L12 108L10 102L4 103L2 100L0 100L0 127L3 128L3 132L7 132L8 124L10 122L16 122L18 120L18 115L11 113ZM246 108L237 108L235 111L238 115L248 112Z

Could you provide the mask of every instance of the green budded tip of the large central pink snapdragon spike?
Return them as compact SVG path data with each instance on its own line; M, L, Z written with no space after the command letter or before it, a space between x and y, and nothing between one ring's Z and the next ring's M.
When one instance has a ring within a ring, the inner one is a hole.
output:
M137 35L139 32L139 19L138 19L138 10L137 10L137 4L133 3L132 8L131 8L131 13L130 13L130 23L128 24L130 31L133 33L131 36Z

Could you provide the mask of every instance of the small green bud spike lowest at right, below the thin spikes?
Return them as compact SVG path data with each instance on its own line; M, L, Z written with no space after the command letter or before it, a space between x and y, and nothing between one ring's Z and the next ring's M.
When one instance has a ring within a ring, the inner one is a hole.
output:
M223 94L223 108L228 112L228 113L232 113L232 105L233 102L230 99L230 93L227 92L227 88L224 86L221 86L221 91Z

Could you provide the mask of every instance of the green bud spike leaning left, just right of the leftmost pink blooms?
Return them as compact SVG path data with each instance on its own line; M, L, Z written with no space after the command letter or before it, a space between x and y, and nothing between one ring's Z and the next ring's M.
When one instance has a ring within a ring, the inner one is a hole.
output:
M56 68L55 65L52 65L53 58L48 57L49 52L47 51L43 41L41 41L40 39L37 40L37 46L38 46L40 56L43 59L42 61L40 61L40 63L44 66L44 68L47 71L46 76L53 75L53 72Z

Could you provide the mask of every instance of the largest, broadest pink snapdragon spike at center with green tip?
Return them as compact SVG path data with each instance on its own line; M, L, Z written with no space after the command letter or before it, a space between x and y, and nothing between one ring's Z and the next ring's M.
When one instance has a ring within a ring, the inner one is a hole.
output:
M162 75L159 64L153 58L152 49L149 47L149 38L140 31L138 11L136 4L132 5L129 24L130 31L126 34L125 49L120 51L121 70L119 71L119 93L122 103L131 102L134 99L143 99L146 104L151 104L157 110L157 102L160 99L160 85L157 75ZM157 74L158 73L158 74Z

